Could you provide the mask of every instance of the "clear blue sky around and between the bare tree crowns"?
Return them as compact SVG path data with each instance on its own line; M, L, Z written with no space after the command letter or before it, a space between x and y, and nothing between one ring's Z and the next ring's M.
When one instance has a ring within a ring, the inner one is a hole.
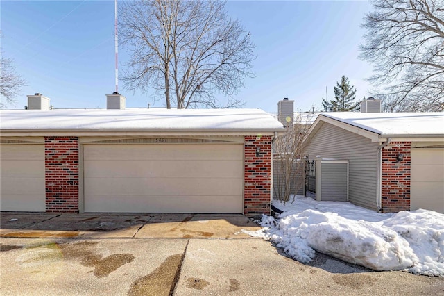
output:
M255 78L237 98L245 108L277 110L284 97L295 108L321 108L333 85L348 76L357 99L368 96L371 66L359 60L360 28L368 1L228 1L230 17L250 31ZM10 108L24 108L40 92L56 108L105 108L114 91L114 1L1 1L1 48L28 85ZM119 47L120 64L128 59ZM123 69L123 65L119 65ZM164 107L151 94L130 92L129 108Z

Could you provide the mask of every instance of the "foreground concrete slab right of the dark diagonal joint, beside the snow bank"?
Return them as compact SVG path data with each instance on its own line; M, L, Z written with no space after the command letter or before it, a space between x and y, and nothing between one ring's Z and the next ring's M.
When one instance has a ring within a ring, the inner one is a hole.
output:
M407 272L328 272L264 240L193 240L174 295L440 295L444 279Z

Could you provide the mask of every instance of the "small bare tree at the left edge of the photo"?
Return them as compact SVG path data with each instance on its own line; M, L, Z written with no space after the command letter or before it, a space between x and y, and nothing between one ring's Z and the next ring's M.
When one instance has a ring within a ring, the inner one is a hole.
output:
M2 52L0 52L0 55L0 108L5 108L14 104L15 97L27 83L22 76L15 72L12 60L4 58Z

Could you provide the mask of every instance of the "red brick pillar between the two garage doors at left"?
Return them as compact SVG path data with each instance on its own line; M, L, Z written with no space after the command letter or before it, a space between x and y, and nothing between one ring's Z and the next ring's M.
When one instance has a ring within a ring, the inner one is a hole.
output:
M78 138L45 137L46 212L78 213Z

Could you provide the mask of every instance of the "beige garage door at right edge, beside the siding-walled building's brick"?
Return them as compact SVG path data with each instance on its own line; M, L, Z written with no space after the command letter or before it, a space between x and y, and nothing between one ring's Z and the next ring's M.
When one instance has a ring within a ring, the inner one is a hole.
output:
M411 149L410 208L444 213L444 149Z

